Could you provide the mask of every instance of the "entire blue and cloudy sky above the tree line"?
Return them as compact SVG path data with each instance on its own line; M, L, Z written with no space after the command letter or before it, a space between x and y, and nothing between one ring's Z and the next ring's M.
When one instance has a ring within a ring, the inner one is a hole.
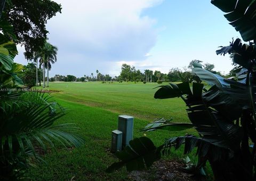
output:
M167 73L191 60L228 73L228 56L215 54L241 36L210 0L55 0L62 13L47 23L49 42L59 48L55 74L118 76L123 63ZM23 47L15 62L27 64Z

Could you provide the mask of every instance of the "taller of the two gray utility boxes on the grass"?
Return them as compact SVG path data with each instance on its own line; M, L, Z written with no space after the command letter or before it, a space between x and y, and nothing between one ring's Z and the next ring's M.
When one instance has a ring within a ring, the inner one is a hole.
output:
M129 145L133 136L133 117L127 115L118 116L118 130L123 132L122 145Z

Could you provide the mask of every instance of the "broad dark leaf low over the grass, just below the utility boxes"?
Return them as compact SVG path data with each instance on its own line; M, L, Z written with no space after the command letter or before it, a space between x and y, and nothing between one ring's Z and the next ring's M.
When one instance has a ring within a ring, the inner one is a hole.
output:
M142 170L161 158L161 148L157 148L147 137L135 138L129 144L115 154L121 161L111 164L107 172L113 172L123 166L126 166L127 171Z

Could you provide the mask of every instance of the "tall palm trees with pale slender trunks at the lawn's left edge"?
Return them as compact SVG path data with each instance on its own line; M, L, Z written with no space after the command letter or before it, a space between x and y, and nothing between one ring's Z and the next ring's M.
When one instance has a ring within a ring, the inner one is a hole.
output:
M49 87L49 70L51 70L53 63L57 62L57 51L58 48L56 46L51 45L48 42L45 42L44 46L40 51L35 52L34 61L36 62L36 85L38 83L38 59L39 59L39 69L43 65L43 88L45 87L45 70L47 69L47 85Z

